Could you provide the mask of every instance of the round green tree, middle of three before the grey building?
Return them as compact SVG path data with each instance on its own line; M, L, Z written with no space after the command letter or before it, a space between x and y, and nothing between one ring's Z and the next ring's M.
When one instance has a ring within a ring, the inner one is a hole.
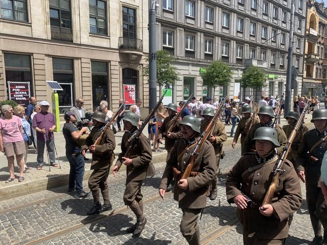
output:
M233 77L233 71L225 62L214 61L200 72L200 76L202 78L202 85L213 88L213 94L215 94L217 87L229 85Z

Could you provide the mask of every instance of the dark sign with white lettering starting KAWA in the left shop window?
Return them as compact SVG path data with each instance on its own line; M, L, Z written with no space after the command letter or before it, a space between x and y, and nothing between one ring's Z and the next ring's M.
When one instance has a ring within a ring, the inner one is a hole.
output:
M10 82L8 81L9 100L26 107L30 103L30 82Z

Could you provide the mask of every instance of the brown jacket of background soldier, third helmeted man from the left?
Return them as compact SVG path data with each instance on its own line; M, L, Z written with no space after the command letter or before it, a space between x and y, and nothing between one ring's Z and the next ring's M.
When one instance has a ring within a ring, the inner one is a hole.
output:
M158 139L163 139L165 137L171 123L172 123L173 117L166 117L163 120L163 124L161 125L158 133ZM180 119L177 119L174 123L174 126L172 127L172 130L170 132L170 138L165 138L164 141L164 149L171 150L174 146L174 143L176 139L182 137L181 128L179 126L179 123L181 122Z

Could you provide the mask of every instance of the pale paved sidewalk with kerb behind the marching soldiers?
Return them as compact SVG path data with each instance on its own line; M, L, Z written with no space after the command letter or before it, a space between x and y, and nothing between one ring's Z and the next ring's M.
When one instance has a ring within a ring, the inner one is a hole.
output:
M283 116L282 116L283 117ZM305 120L306 123L310 123L311 114L306 115L307 119ZM284 118L281 118L281 125L287 124L287 121ZM64 122L61 122L61 128L63 127ZM227 135L230 135L231 125L225 126ZM236 130L236 127L235 127ZM148 136L147 126L143 130L143 133ZM123 132L118 132L115 135L116 139L116 149L115 154L116 156L121 152L121 140L122 140ZM232 143L231 137L224 143L224 145L231 145ZM238 142L239 144L239 142ZM60 162L61 169L59 167L51 167L51 171L49 171L48 162L47 162L47 155L46 152L44 153L44 160L45 164L43 165L42 170L36 170L36 154L35 150L30 149L28 158L27 158L27 165L30 166L32 169L29 173L24 175L25 180L23 182L18 182L16 179L13 183L6 184L5 180L8 179L8 167L7 167L7 160L3 153L0 153L0 200L21 196L41 190L46 190L62 185L68 184L68 174L69 174L69 163L65 157L65 139L62 132L55 133L55 145L58 153L58 160ZM161 149L164 145L161 145ZM92 158L91 154L87 153L88 158ZM163 162L166 159L166 151L163 153L154 153L153 152L153 162L159 163ZM85 175L84 180L87 180L90 177L91 170L91 160L86 161L85 164ZM58 161L57 161L58 163ZM16 163L15 163L16 164ZM15 166L15 173L18 174L18 167Z

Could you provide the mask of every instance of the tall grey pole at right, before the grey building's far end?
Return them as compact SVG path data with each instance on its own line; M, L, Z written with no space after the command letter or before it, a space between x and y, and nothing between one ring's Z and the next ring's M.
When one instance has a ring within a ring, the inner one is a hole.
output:
M285 110L284 117L290 112L291 108L291 82L292 82L292 65L293 65L293 31L294 31L294 0L291 2L291 26L289 38L289 53L287 56L287 75L286 75L286 89L285 89Z

